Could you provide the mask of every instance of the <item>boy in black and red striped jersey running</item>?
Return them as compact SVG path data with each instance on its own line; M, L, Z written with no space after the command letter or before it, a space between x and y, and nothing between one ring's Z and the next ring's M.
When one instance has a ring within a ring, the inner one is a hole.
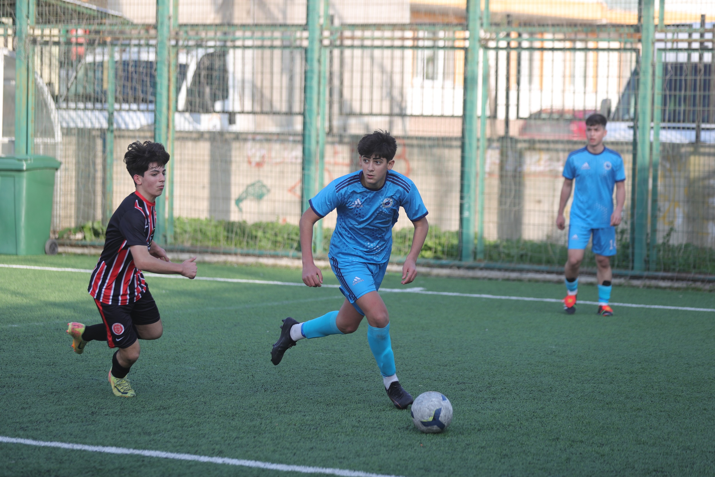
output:
M139 341L156 340L164 330L159 309L144 281L142 270L196 276L194 258L172 263L162 247L154 242L157 212L154 201L162 195L169 154L158 142L132 142L124 154L127 171L136 191L114 211L107 225L104 250L89 279L89 294L94 297L102 323L85 327L67 323L72 348L82 354L88 341L107 341L118 348L112 356L109 383L114 395L135 395L127 379L129 368L139 359Z

